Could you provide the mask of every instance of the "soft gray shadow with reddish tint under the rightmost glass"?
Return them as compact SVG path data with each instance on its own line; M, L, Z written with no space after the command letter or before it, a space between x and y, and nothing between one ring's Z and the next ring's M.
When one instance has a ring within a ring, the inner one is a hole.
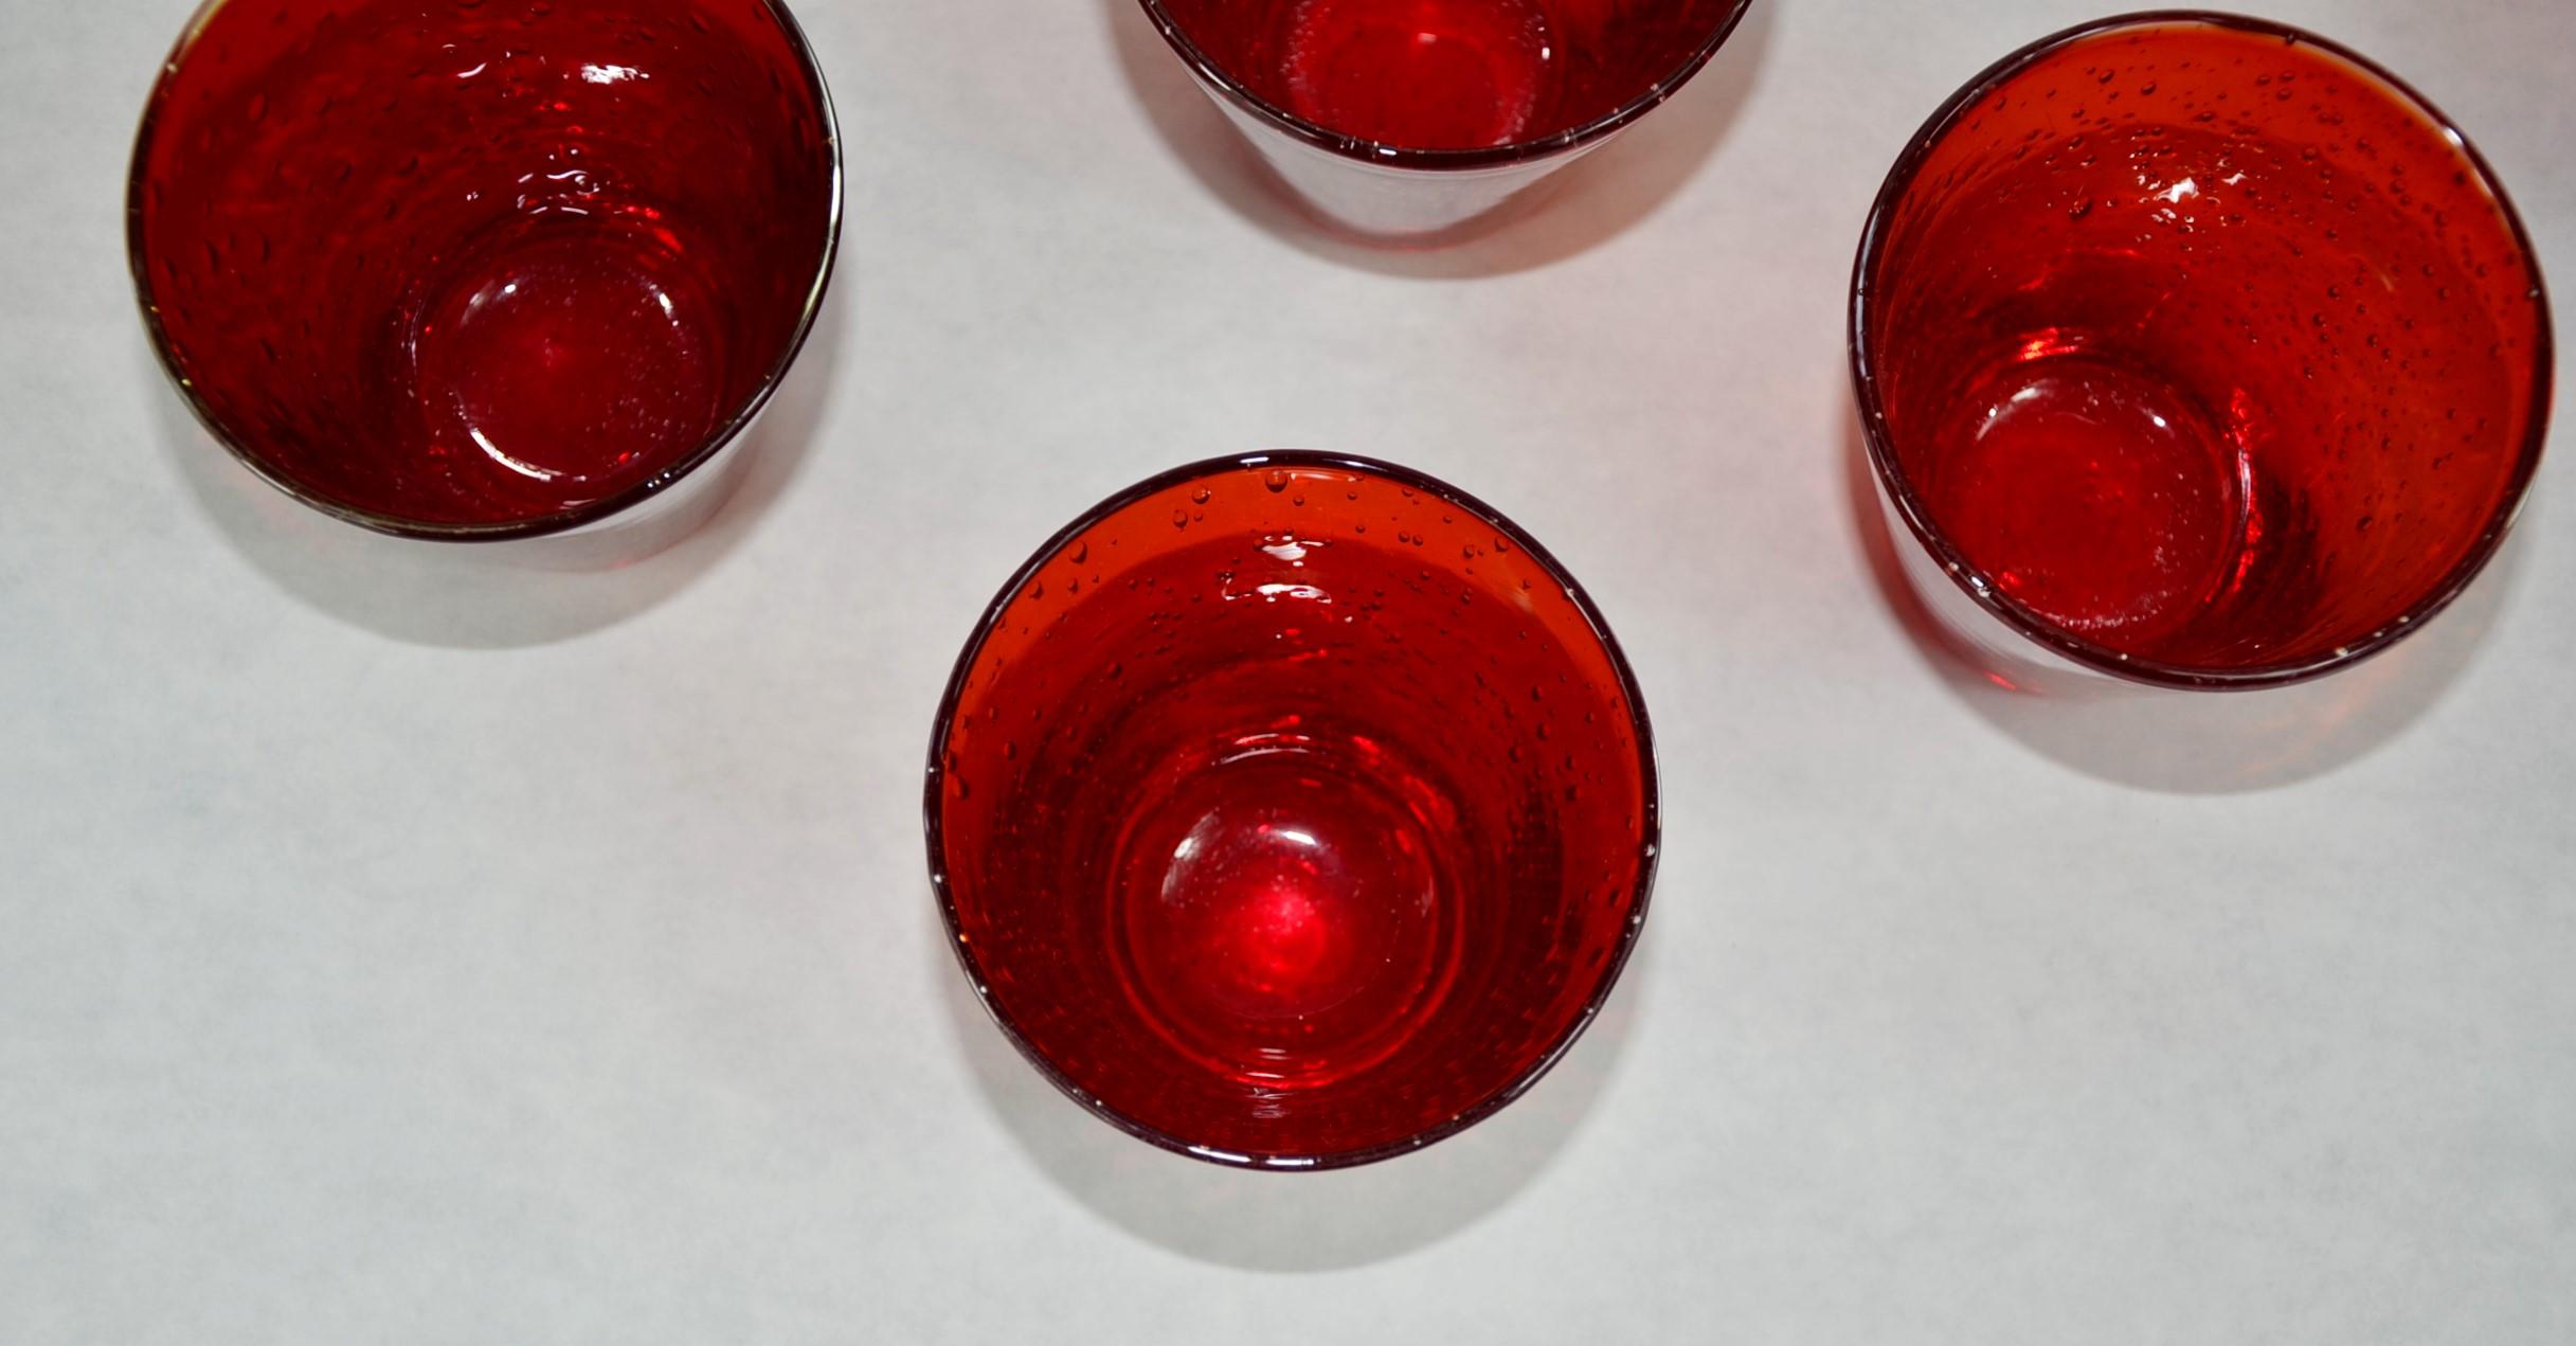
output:
M2040 756L2166 794L2277 789L2370 756L2460 678L2522 572L2524 547L2509 539L2478 583L2439 616L2385 652L2308 683L2264 691L2107 683L2092 696L2012 691L1989 678L1984 658L1950 634L1906 583L1896 547L1914 547L1914 539L1888 531L1857 413L1844 413L1842 454L1870 578L1924 665L1968 709ZM2530 526L2524 511L2519 529Z

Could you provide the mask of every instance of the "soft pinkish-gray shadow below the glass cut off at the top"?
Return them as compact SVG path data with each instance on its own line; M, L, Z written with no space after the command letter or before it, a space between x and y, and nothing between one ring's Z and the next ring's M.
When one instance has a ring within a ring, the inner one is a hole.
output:
M1363 240L1309 211L1216 111L1190 67L1154 31L1144 5L1100 3L1139 106L1172 155L1218 201L1280 240L1342 266L1388 276L1473 278L1533 271L1597 248L1680 191L1741 121L1772 44L1772 8L1780 0L1754 0L1718 54L1662 108L1641 116L1610 144L1494 211L1412 245Z

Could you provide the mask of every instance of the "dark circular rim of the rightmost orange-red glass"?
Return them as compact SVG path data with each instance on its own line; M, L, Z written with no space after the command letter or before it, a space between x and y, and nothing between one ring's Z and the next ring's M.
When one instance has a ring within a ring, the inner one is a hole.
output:
M2125 28L2161 28L2161 26L2210 26L2233 28L2244 34L2280 39L2285 46L2316 46L2318 52L2334 57L2336 62L2352 67L2357 75L2375 80L2396 103L2401 103L2414 119L2427 129L2437 132L2450 142L2458 155L2460 168L2478 183L2496 206L2496 217L2504 222L2504 232L2512 237L2514 248L2522 253L2522 266L2530 276L2532 302L2537 307L2537 322L2532 327L2532 395L2527 407L2527 425L2522 444L2514 449L2514 472L2496 498L2496 508L2488 513L2478 539L2468 552L2414 603L2398 614L2380 621L2370 634L2357 637L2347 645L2311 655L2303 660L2267 663L2249 668L2202 668L2187 663L2164 663L2123 655L2107 645L2084 639L2063 627L2043 619L2027 603L2004 593L2002 585L1976 583L1984 570L1968 562L1968 557L1950 544L1940 523L1932 521L1922 498L1914 493L1914 482L1904 474L1896 462L1896 446L1891 444L1886 425L1886 407L1878 395L1878 371L1870 366L1870 268L1880 260L1888 229L1893 227L1896 206L1911 191L1922 165L1929 160L1932 150L1950 134L1958 121L1986 101L1989 93L2007 85L2012 77L2038 64L2043 57L2056 54L2076 41L2097 39L2105 34L2117 34ZM2476 142L2460 132L2460 126L2445 113L2432 98L2424 98L2414 85L2393 75L2388 67L2372 62L2370 57L2334 41L2316 36L2306 28L2277 23L2269 18L2251 18L2239 13L2215 10L2138 10L2110 18L2097 18L2089 23L2076 23L2030 41L2004 59L1989 64L1965 85L1958 88L1924 124L1906 139L1904 152L1888 168L1886 183L1878 188L1878 199L1870 204L1870 219L1860 232L1860 255L1852 260L1852 299L1850 299L1850 366L1852 387L1860 402L1860 431L1870 451L1870 469L1878 477L1878 487L1886 493L1888 503L1904 516L1906 529L1914 539L1940 562L1942 572L1965 593L1976 606L1999 619L2004 627L2020 632L2025 639L2040 645L2043 650L2074 660L2097 673L2110 673L2123 681L2166 686L2166 688L2197 688L2197 691L2249 691L2264 686L2287 686L2308 678L2349 668L2370 655L2378 655L2403 639L2409 632L2419 629L2434 614L2447 609L2468 585L2486 570L2486 562L2496 557L2504 547L2504 536L2512 531L2514 518L2519 518L2522 505L2530 500L2532 477L2540 469L2540 456L2548 444L2550 431L2550 387L2555 379L2555 343L2550 327L2550 302L2548 284L2540 276L2540 253L2532 248L2532 235L2522 224L2522 211L2514 209L2514 199L2504 191L2504 180L2478 152Z

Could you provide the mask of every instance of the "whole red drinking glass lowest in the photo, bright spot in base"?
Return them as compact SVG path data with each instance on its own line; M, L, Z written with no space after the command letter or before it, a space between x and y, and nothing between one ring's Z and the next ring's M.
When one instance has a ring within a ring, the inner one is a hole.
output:
M1468 495L1327 454L1182 467L1038 549L958 658L925 807L1002 1031L1252 1168L1520 1096L1654 879L1646 709L1592 601Z

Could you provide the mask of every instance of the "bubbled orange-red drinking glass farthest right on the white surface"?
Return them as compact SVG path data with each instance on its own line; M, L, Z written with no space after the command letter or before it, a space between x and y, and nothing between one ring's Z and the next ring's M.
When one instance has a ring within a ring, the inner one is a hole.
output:
M1914 137L1852 371L1909 575L2007 681L2241 688L2388 647L2486 565L2550 317L2421 95L2295 28L2148 13L2025 46Z

